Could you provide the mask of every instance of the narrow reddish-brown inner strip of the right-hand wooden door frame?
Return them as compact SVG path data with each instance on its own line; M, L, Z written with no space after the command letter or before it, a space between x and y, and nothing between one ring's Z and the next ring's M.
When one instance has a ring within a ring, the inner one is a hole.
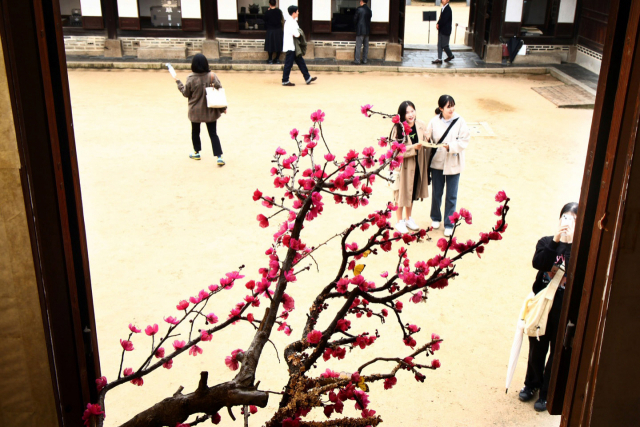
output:
M637 121L640 102L637 81L633 81L637 75L632 75L638 59L639 21L637 2L611 3L549 389L548 409L562 414L561 426L591 422L599 354L607 310L611 309L608 302L626 198L624 181L628 181L631 162L628 153L635 146L625 120L635 114ZM567 327L569 322L575 326Z

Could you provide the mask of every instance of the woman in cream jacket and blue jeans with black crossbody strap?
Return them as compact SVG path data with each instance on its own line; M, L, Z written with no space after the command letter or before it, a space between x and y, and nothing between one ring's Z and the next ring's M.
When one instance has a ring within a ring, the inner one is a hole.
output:
M464 169L464 150L469 145L469 128L460 115L455 112L456 102L450 95L442 95L438 99L436 116L427 126L427 137L433 142L440 142L447 129L449 132L442 140L431 160L431 226L440 228L442 222L442 193L445 192L444 235L451 236L453 224L449 217L456 211L458 200L458 183L460 173Z

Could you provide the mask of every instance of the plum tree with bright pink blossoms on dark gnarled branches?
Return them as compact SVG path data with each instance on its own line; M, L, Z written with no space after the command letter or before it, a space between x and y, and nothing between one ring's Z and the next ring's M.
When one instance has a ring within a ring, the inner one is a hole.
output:
M399 116L375 112L371 105L361 107L361 112L367 117L381 115L383 118L391 118L394 124L399 123ZM275 210L268 216L258 215L261 227L269 227L277 216L284 218L279 222L273 242L265 252L267 261L264 266L258 270L255 279L244 284L247 290L244 299L231 308L224 320L213 312L207 313L207 306L218 294L233 288L245 278L244 266L241 266L237 271L226 273L219 284L211 285L208 290L201 290L197 295L179 301L176 306L179 315L165 317L163 327L153 324L144 328L144 333L150 337L150 346L147 347L150 351L136 370L125 367L125 356L131 351L141 351L141 342L136 340L134 347L132 338L140 334L142 329L129 324L127 339L120 340L122 357L117 378L110 382L106 377L96 380L99 398L96 403L87 406L83 416L86 425L90 425L92 421L97 426L103 425L105 396L115 387L126 383L142 386L143 377L160 368L171 369L174 360L183 353L193 357L202 355L206 349L205 343L212 341L217 332L234 325L250 325L255 334L248 348L235 349L224 360L230 370L238 371L234 378L208 386L208 373L202 372L195 391L183 394L181 387L173 396L140 412L123 426L193 426L206 420L218 424L221 420L219 411L225 407L235 420L232 412L234 406L241 407L246 424L249 415L256 413L258 407L267 405L271 393L260 390L260 381L256 378L264 346L267 342L273 344L270 337L274 328L286 335L292 334L287 320L296 308L291 296L295 294L294 283L298 281L301 272L310 269L309 265L303 267L301 263L313 259L314 252L335 237L340 238L340 264L336 266L334 279L318 288L301 333L284 348L289 379L284 385L284 392L278 393L281 396L279 409L266 426L376 426L382 419L370 408L367 384L381 381L384 389L388 390L397 384L398 377L403 372L424 382L425 371L441 366L438 359L431 359L429 362L427 358L432 357L440 348L442 338L432 334L430 340L418 343L414 335L421 329L403 320L403 304L421 302L426 300L431 289L445 288L449 280L458 275L456 265L462 257L474 252L480 257L487 244L501 240L502 233L507 229L505 220L509 198L504 191L496 195L495 200L500 204L495 214L500 219L490 231L480 233L477 241L457 240L457 227L463 222L471 224L472 216L464 208L454 213L451 217L454 224L453 235L448 239L439 239L437 248L440 253L427 260L412 263L406 246L428 239L427 232L430 230L407 234L395 231L389 223L392 212L396 209L391 203L384 209L368 213L361 221L349 225L324 243L308 245L302 239L304 224L322 215L327 198L332 199L335 204L347 204L353 208L367 206L374 181L377 178L388 181L389 175L383 172L400 167L406 151L403 140L392 140L390 134L378 139L383 152L377 158L374 148L366 147L361 152L349 150L342 160L338 160L324 139L324 120L325 113L317 110L311 114L312 125L306 134L301 136L297 129L290 132L295 153L288 154L281 147L276 149L271 174L275 177L274 187L283 191L283 197L276 199L260 190L253 194L254 201L261 202L267 209ZM406 128L404 123L403 135ZM320 139L327 150L323 156L317 152ZM357 230L368 236L362 247L351 242ZM397 250L397 262L391 272L380 274L380 283L376 283L369 275L365 277L364 265L359 264L360 260L370 255L375 256L380 251L390 252L394 243L402 246ZM259 307L263 301L266 309L262 318L248 312ZM330 305L333 310L329 310ZM323 324L328 324L325 328L319 327L322 316L327 317L323 319ZM395 354L381 355L362 363L350 374L337 373L327 368L320 376L311 376L311 368L317 364L330 363L332 358L344 359L347 354L358 357L357 352L347 353L347 350L364 349L375 344L379 332L364 331L357 326L357 319L363 316L379 318L382 323L391 316L397 321L401 333L399 341L404 346L396 350ZM177 339L171 342L173 338ZM401 350L402 348L405 350ZM373 365L381 363L390 364L391 368L365 374ZM352 404L359 414L343 414L347 404ZM327 419L305 420L313 408L321 408Z

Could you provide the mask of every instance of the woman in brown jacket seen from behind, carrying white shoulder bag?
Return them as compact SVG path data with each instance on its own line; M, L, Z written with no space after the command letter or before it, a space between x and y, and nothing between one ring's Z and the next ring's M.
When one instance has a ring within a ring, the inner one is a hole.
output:
M224 166L222 146L220 145L220 138L218 138L216 123L222 113L226 114L227 109L208 108L206 91L208 86L220 89L222 84L220 80L218 80L218 76L209 70L209 61L207 61L207 58L201 53L193 57L191 61L191 71L193 71L193 73L189 74L185 84L177 77L175 78L178 84L178 90L185 98L189 98L188 116L191 121L191 142L193 143L193 153L189 154L189 157L193 160L200 160L200 150L202 149L200 125L201 123L206 123L209 138L211 138L211 145L213 146L213 155L218 158L216 163L218 166Z

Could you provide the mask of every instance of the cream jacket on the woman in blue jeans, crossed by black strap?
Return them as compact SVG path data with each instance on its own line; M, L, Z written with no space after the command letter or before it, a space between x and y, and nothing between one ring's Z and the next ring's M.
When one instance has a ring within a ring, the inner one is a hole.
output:
M469 145L469 128L467 122L454 113L451 120L456 118L458 121L442 142L449 146L449 151L447 152L445 148L440 147L431 160L431 168L441 170L444 175L457 175L464 170L464 150ZM440 141L450 123L450 121L445 122L441 119L440 115L435 116L427 125L427 138L433 142Z

